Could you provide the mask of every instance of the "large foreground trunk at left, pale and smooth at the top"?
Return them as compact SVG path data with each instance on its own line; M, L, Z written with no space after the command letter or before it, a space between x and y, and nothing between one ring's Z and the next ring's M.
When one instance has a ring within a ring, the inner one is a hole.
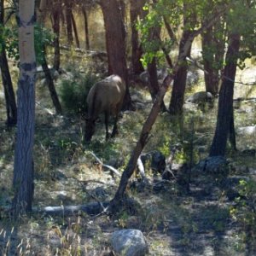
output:
M34 0L20 0L19 53L20 77L18 82L18 121L15 144L13 213L18 216L32 211L33 161L35 124L36 56L34 51Z

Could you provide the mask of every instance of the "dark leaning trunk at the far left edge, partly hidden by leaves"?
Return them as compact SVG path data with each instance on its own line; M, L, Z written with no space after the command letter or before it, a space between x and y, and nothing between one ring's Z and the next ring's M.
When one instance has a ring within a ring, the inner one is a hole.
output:
M0 0L0 25L4 26L4 0ZM9 73L9 65L6 57L3 40L0 43L0 70L2 74L3 90L5 96L7 125L16 125L17 123L17 106L15 101L15 91L12 79Z

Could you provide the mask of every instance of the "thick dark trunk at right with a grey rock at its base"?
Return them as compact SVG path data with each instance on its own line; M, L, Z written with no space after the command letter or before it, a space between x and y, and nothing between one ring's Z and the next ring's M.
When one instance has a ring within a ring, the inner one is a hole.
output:
M228 46L225 60L227 64L224 67L222 84L219 91L218 119L212 146L210 149L210 156L224 156L229 132L234 129L233 94L239 47L240 36L238 34L231 34L230 44ZM232 144L235 144L236 146L236 142L234 142L234 135L235 133L232 135Z

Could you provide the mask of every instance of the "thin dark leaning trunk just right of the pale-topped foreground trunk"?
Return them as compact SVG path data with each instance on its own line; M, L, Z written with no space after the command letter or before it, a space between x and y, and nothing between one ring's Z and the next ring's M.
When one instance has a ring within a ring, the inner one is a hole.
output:
M38 23L40 24L40 26L44 26L44 20L45 20L45 15L46 15L46 10L47 10L47 1L46 0L41 0L40 2L40 8L39 8L39 13L38 13ZM54 80L52 78L52 75L50 73L49 67L48 67L48 63L46 60L46 46L45 44L43 44L43 56L41 61L41 65L43 67L44 70L44 76L46 79L46 83L48 84L48 89L49 89L49 94L51 97L51 100L53 102L53 105L55 106L55 111L56 113L61 113L61 103L59 101L57 92L55 90L55 84L54 84Z

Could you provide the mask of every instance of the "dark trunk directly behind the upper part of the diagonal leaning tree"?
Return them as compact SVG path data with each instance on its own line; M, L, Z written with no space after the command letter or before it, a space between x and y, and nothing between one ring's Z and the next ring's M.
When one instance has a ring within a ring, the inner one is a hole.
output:
M189 9L189 5L184 4L184 13L186 13ZM189 16L184 15L183 18L183 27L188 26L189 24L195 22L195 16L193 14L189 14ZM192 42L189 42L189 52L187 55L183 55L184 45L188 46L188 39L193 34L193 30L183 30L182 38L179 43L179 51L178 51L178 60L181 61L179 69L174 77L173 86L172 86L172 97L169 105L169 111L171 114L181 114L183 113L183 102L184 102L184 94L187 82L187 73L188 73L188 64L186 61L186 57L190 55L190 50L192 46ZM183 58L180 57L183 55Z

